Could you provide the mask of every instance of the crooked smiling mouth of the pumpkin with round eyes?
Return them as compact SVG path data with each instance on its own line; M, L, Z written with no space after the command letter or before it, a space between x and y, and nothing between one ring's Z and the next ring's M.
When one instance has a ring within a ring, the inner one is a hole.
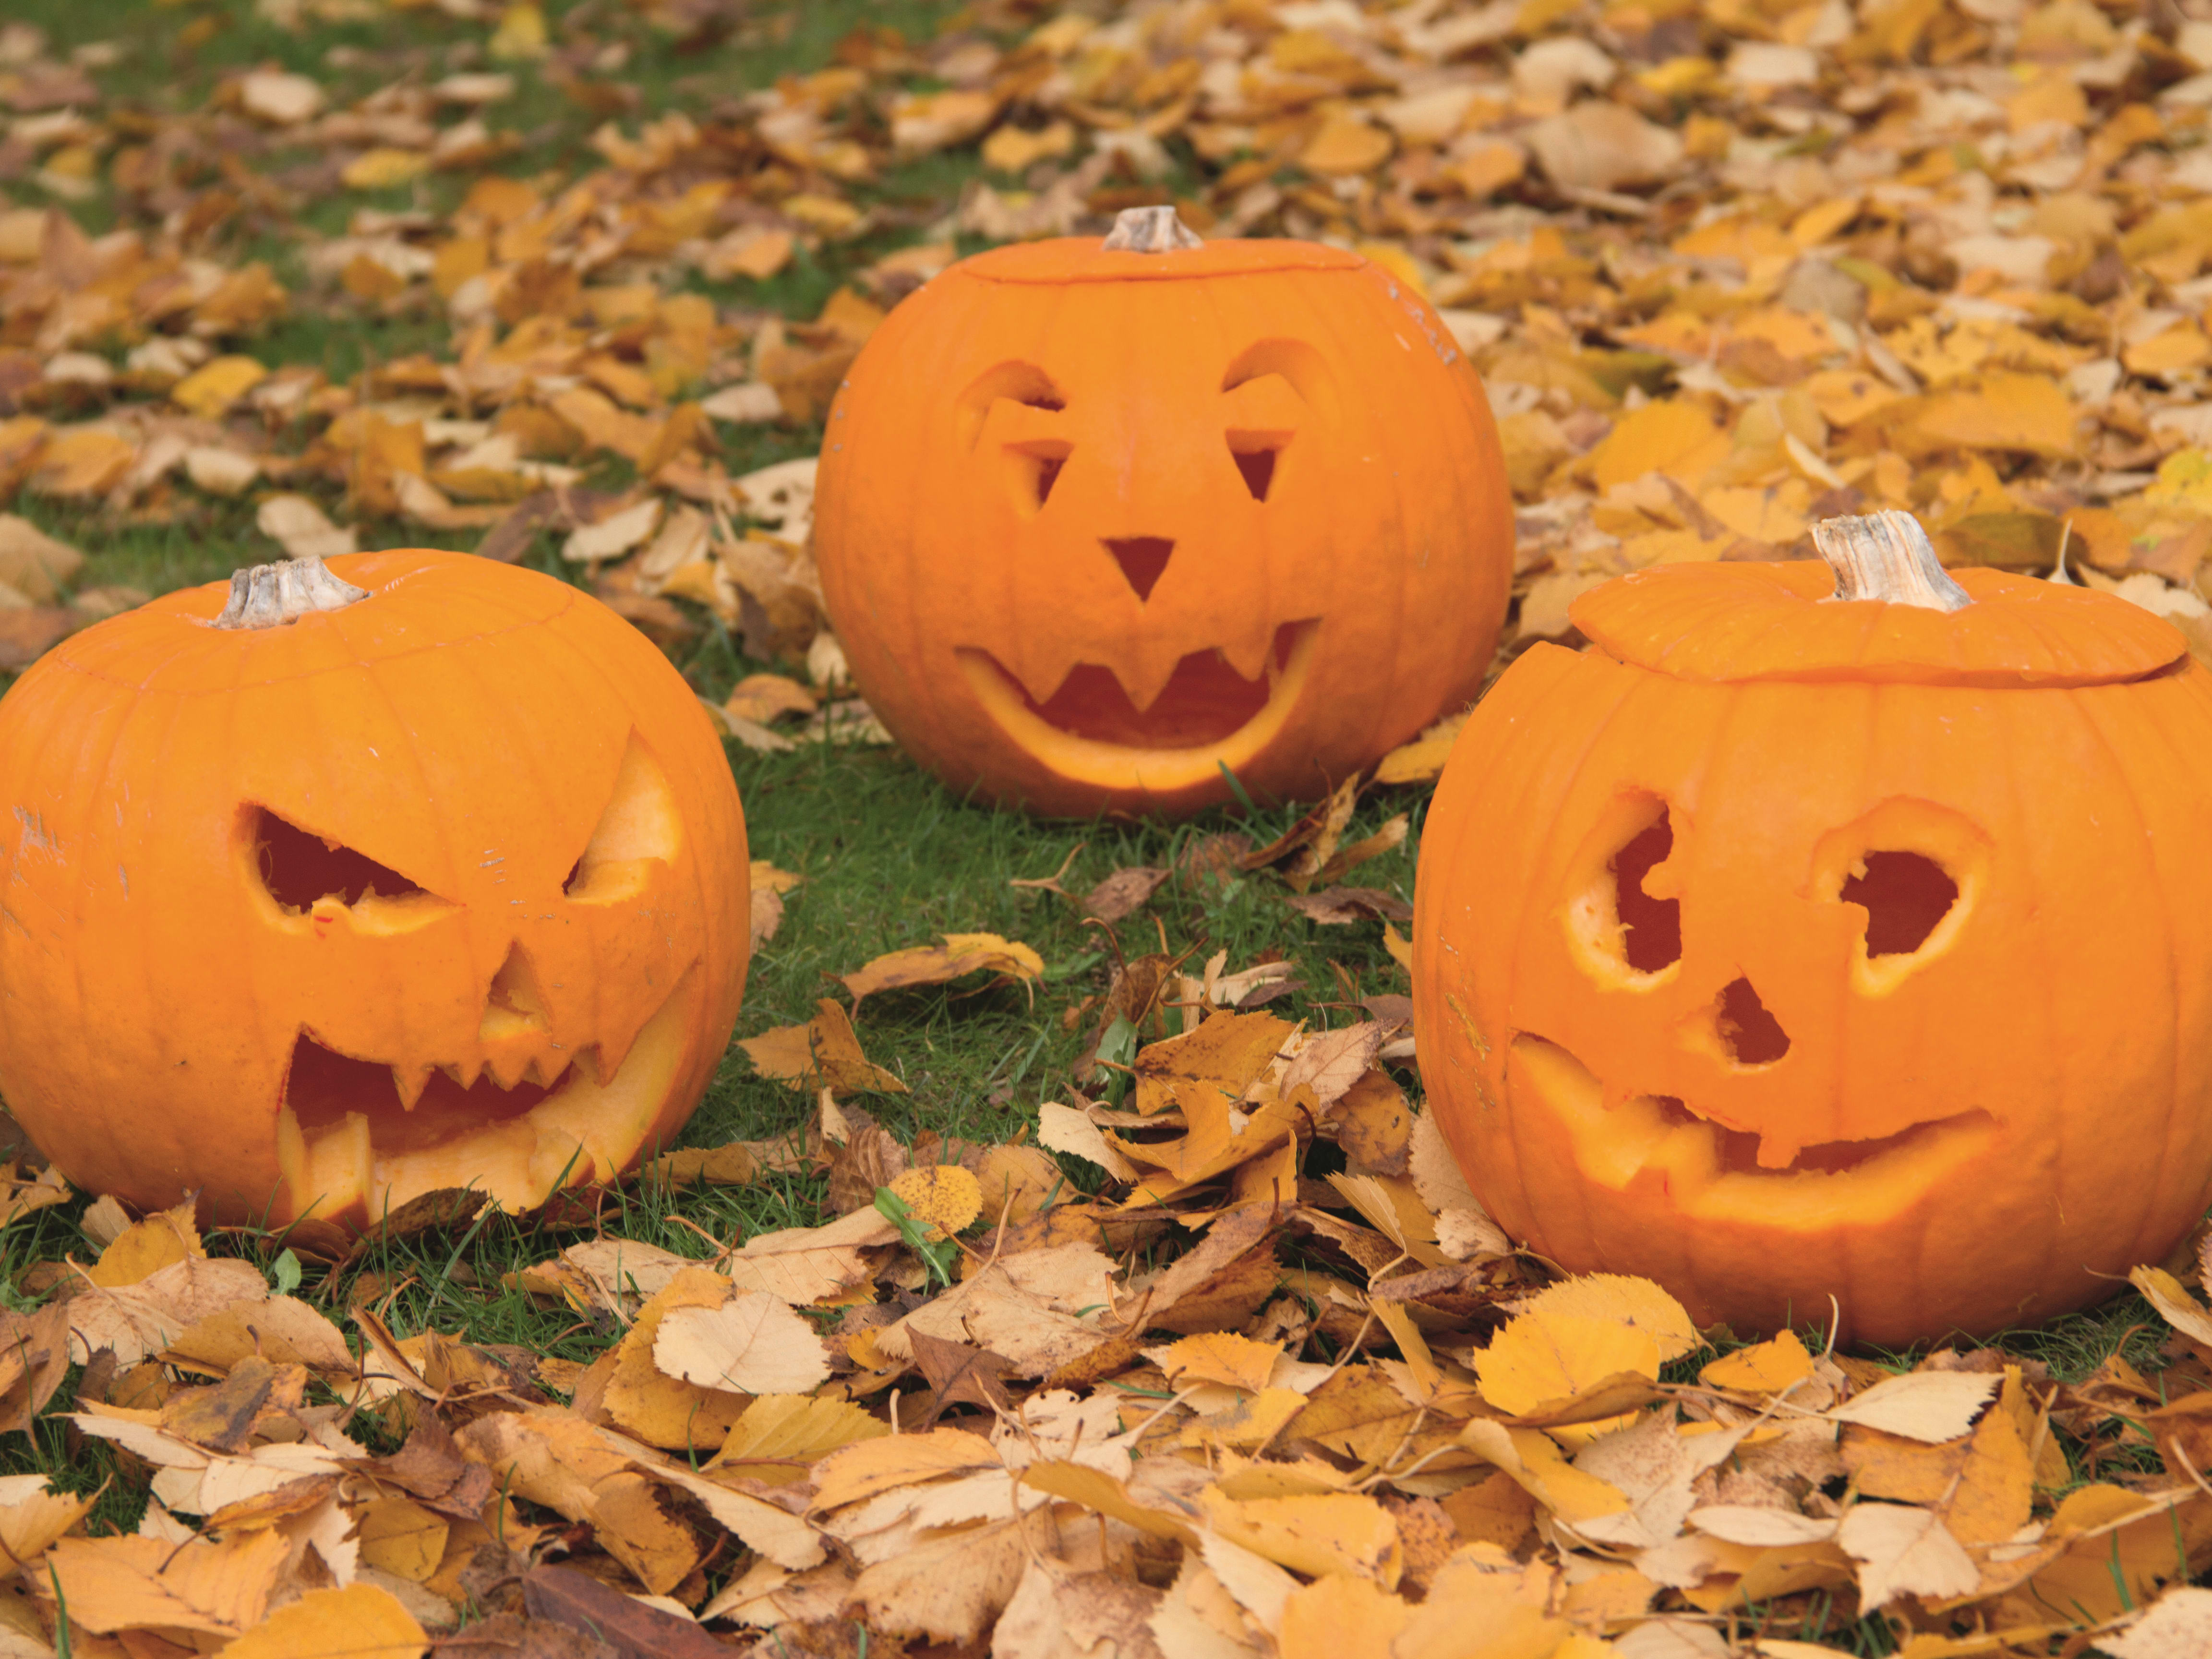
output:
M1920 1201L1997 1133L1997 1119L1973 1108L1880 1139L1801 1146L1776 1166L1759 1161L1759 1135L1699 1117L1668 1095L1608 1108L1595 1073L1533 1033L1513 1037L1511 1073L1557 1115L1586 1175L1617 1190L1659 1181L1692 1214L1814 1225L1836 1212L1869 1221Z

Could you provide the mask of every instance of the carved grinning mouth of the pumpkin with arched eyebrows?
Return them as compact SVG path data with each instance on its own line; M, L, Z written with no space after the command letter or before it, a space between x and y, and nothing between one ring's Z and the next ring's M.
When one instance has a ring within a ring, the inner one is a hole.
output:
M1318 617L1285 622L1252 679L1219 650L1194 650L1144 708L1104 664L1077 664L1040 703L989 650L962 646L958 659L969 690L1031 757L1084 783L1159 792L1212 783L1276 737L1305 690L1316 633Z

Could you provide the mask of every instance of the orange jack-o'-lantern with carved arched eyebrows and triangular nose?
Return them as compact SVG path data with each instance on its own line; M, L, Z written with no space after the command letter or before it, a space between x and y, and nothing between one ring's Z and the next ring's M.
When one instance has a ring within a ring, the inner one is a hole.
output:
M1513 566L1473 369L1358 254L1104 243L951 265L830 409L814 544L869 706L1040 812L1310 799L1473 697Z

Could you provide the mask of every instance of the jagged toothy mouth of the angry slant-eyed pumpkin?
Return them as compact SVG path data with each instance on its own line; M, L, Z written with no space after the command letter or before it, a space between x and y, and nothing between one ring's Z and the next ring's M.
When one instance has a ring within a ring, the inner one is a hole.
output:
M540 1064L511 1086L491 1068L471 1079L440 1066L425 1079L334 1053L303 1031L276 1115L294 1212L376 1217L458 1186L526 1210L560 1186L613 1179L668 1099L692 980L677 982L613 1075L602 1075L597 1048L582 1048L551 1079Z

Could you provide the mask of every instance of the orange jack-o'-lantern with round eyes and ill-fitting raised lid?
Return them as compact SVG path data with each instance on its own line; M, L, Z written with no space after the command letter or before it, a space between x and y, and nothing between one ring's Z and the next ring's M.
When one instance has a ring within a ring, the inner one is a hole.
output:
M1590 648L1467 723L1413 918L1438 1126L1513 1237L1701 1323L2081 1307L2212 1197L2212 672L1905 513L1816 540L1586 593Z

